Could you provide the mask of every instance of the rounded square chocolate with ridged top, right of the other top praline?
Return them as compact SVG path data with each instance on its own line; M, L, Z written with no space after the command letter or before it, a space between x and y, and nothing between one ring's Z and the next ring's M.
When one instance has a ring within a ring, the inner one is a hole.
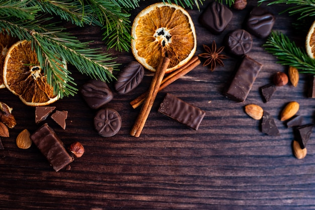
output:
M262 7L255 7L246 21L247 31L259 37L266 38L275 24L275 17Z

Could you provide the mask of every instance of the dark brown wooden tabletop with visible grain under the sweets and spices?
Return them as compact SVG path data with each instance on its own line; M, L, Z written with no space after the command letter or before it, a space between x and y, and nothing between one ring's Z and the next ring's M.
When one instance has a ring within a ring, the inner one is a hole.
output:
M150 3L140 2L131 20ZM256 4L250 1L245 10L233 10L231 23L216 36L198 23L201 11L187 9L196 28L196 54L203 52L202 44L210 45L212 40L221 46L223 36L242 28L246 14ZM279 15L286 7L267 7L276 16L273 29L303 46L305 32L295 33L293 18ZM92 47L106 51L100 28L67 27L82 41L94 40ZM263 103L259 87L270 83L277 71L287 72L286 66L277 64L277 59L261 47L264 43L254 37L248 53L264 66L245 102L236 103L222 95L236 58L225 59L225 66L218 66L214 72L199 65L157 95L138 138L130 136L129 130L139 108L133 110L129 102L147 89L152 78L149 72L132 93L114 93L114 99L106 105L122 116L122 128L113 137L101 137L94 130L96 111L80 94L55 102L56 110L68 111L66 129L50 118L45 122L65 145L79 141L86 149L82 158L70 164L70 170L59 172L52 169L35 145L28 150L17 148L20 131L27 128L32 133L39 127L35 124L35 108L24 105L8 90L1 90L0 100L13 107L18 124L10 129L10 137L2 138L5 149L0 150L0 209L315 209L315 134L311 134L307 156L298 160L291 149L293 131L279 120L284 105L297 101L304 123L313 123L315 99L306 96L311 76L300 74L296 88L290 84L281 87L270 102ZM134 60L131 52L110 52L122 65ZM78 87L89 79L73 66L69 68ZM206 111L197 131L157 112L167 92ZM275 118L280 136L261 132L260 121L244 112L244 106L250 103L262 106Z

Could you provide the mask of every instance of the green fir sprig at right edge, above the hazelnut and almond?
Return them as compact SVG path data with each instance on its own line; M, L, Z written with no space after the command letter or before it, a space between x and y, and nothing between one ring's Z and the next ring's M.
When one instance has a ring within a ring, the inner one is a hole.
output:
M299 69L300 73L315 75L315 59L310 58L302 48L297 47L286 35L280 32L272 32L263 46L269 53L278 58L278 63L294 66Z

